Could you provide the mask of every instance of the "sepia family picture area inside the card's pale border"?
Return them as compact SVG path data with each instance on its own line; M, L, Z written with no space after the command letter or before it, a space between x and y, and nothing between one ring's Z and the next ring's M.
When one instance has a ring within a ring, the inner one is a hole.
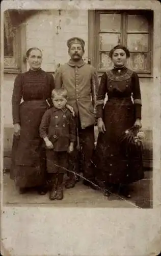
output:
M5 203L152 207L152 46L149 10L4 12Z

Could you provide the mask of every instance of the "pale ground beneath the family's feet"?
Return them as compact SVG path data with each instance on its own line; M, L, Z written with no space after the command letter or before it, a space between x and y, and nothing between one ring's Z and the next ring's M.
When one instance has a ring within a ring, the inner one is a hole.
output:
M9 173L4 174L3 202L8 206L35 205L35 206L63 206L63 207L122 207L122 208L152 208L152 172L145 172L145 178L131 185L131 199L111 195L106 198L100 191L86 187L78 182L74 188L64 190L62 201L50 201L48 194L40 196L35 190L19 195L10 180Z

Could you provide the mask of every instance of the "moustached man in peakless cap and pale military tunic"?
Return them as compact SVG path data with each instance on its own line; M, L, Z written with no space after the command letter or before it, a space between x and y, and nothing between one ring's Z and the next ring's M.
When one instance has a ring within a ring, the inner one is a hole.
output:
M96 70L88 65L83 59L85 52L85 41L78 37L70 38L67 41L68 54L70 60L62 65L56 72L56 88L61 88L64 84L68 92L68 104L75 112L77 137L82 152L82 172L86 179L85 185L90 185L88 181L93 181L93 171L91 168L91 158L94 151L94 123L95 106L99 86ZM79 158L80 159L80 158ZM76 143L74 154L70 158L70 168L76 169L78 163ZM87 181L88 180L88 181ZM75 176L70 175L66 188L75 186Z

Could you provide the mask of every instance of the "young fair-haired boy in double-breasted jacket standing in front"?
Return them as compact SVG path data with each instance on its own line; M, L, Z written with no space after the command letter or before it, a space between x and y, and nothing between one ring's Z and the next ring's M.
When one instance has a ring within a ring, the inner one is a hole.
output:
M45 112L40 124L40 137L46 144L47 172L52 185L50 200L63 199L63 178L68 168L68 153L73 151L75 124L66 108L67 91L54 89L53 107Z

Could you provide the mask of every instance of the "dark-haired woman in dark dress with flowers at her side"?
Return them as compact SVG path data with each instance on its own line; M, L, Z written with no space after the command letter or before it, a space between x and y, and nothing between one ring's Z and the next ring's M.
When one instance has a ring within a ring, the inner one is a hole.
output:
M114 68L105 72L97 96L98 140L95 151L97 180L103 187L130 198L128 184L144 177L142 152L129 157L120 146L120 137L132 126L141 124L141 92L137 73L126 68L127 48L116 46L110 52ZM105 95L108 101L104 105ZM105 196L110 196L104 190Z

